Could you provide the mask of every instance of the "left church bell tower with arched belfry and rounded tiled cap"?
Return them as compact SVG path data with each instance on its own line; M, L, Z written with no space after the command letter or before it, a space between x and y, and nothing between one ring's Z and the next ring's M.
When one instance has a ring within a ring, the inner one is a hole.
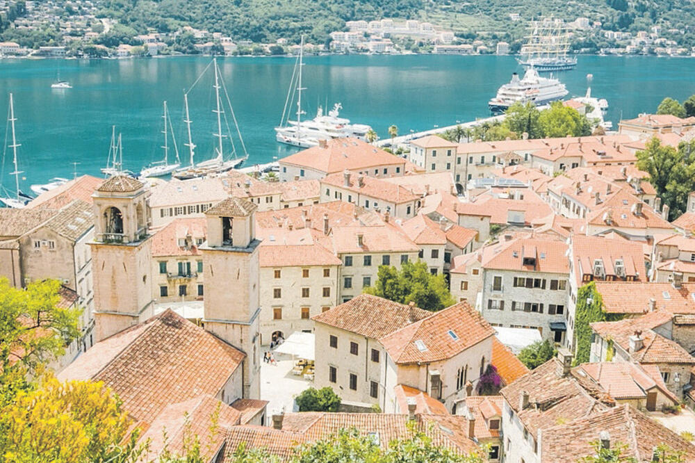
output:
M125 176L104 181L92 195L95 341L153 315L145 185Z

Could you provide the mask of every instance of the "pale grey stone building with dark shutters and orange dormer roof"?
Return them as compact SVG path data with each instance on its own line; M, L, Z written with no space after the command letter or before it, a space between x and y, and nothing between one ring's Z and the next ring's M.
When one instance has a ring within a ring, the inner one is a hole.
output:
M537 328L563 343L569 261L555 238L511 238L482 250L482 295L477 307L492 325Z

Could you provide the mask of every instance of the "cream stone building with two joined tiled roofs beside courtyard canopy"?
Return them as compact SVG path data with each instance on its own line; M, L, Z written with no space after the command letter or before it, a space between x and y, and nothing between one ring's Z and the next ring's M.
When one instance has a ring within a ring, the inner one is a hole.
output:
M432 313L363 294L313 320L316 387L387 413L398 385L455 409L491 360L494 330L465 303Z

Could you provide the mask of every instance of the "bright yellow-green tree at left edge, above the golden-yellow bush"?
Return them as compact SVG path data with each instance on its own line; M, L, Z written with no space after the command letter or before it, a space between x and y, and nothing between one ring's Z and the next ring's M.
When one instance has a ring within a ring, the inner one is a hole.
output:
M79 309L58 307L60 282L31 282L26 289L0 279L0 384L13 368L34 371L63 355L79 336Z

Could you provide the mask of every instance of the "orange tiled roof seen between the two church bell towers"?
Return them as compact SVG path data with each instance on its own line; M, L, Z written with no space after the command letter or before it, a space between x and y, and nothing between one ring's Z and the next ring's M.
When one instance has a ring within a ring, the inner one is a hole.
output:
M196 238L204 241L207 229L207 221L204 217L172 220L152 236L152 257L201 255ZM188 235L193 239L192 245L179 246L179 239L186 238Z

